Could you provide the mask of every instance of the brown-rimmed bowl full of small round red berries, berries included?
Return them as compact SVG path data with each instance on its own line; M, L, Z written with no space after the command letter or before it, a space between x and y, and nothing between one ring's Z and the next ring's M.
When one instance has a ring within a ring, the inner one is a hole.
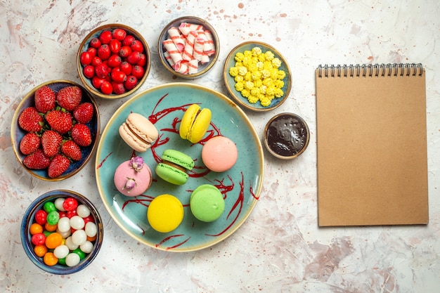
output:
M150 49L127 25L96 27L79 45L77 70L84 87L101 98L134 93L150 72Z

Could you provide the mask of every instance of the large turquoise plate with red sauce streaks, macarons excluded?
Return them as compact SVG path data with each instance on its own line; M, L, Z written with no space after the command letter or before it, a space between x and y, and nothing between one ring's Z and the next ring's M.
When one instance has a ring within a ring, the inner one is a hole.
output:
M212 110L211 125L199 143L192 144L179 136L179 125L184 110L193 103ZM119 136L119 126L130 112L148 117L159 131L152 148L137 153L153 173L150 188L137 197L119 193L113 183L115 169L130 159L133 150ZM231 138L238 148L238 161L224 173L209 171L202 163L202 144L212 136ZM183 185L172 185L155 175L155 167L162 152L175 149L190 155L195 161L190 178ZM135 240L172 252L203 249L226 239L250 215L259 199L264 173L261 142L247 116L226 96L212 89L188 83L156 86L127 100L108 122L96 152L96 182L112 219ZM192 190L198 185L216 185L224 195L226 208L220 219L203 223L195 219L189 208ZM148 224L148 204L157 195L169 193L181 200L185 216L176 230L158 233Z

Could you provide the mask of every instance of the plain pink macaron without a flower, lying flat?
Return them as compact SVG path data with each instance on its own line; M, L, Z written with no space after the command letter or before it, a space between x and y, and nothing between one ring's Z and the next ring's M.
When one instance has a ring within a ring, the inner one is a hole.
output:
M202 147L202 161L214 172L228 171L237 162L237 145L226 136L214 136Z

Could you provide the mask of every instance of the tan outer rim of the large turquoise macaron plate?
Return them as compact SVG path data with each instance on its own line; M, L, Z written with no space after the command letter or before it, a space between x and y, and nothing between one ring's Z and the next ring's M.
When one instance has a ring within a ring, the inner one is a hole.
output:
M254 136L255 141L257 142L257 148L259 149L258 155L259 155L259 159L260 159L260 162L261 162L261 166L259 167L259 183L258 183L257 186L254 187L254 195L252 196L252 197L254 197L254 200L252 201L252 204L250 205L250 208L248 209L247 213L244 214L244 216L242 217L242 221L240 221L240 223L238 223L234 228L231 228L230 230L228 230L228 233L225 233L224 236L216 237L215 240L207 243L207 245L202 245L202 246L188 248L188 249L176 249L176 248L174 248L174 249L167 249L167 247L162 247L162 246L154 245L154 244L149 243L148 241L146 241L144 238L139 237L138 235L134 235L134 233L131 233L123 225L123 223L120 223L116 219L116 216L113 214L112 209L110 209L110 205L105 200L105 195L103 193L103 188L101 188L101 183L99 182L99 169L100 169L99 167L100 167L100 165L103 162L102 156L100 155L101 154L101 149L102 149L102 144L103 144L103 138L105 138L106 134L108 133L108 131L110 129L110 125L112 125L112 122L115 119L117 119L118 115L125 108L127 108L131 103L133 103L134 100L137 100L138 98L141 98L142 96L144 96L145 94L148 94L150 92L158 91L158 90L164 89L164 88L175 88L175 87L178 87L178 88L179 87L189 87L189 88L199 89L199 90L202 90L202 91L208 91L209 93L213 93L214 96L216 96L217 98L223 99L226 103L231 105L231 107L235 108L240 113L240 116L242 117L242 119L244 119L245 122L250 126L250 130L252 131L252 136ZM101 197L101 201L103 202L103 205L104 205L105 209L108 211L108 214L110 214L110 217L117 224L117 226L119 226L119 228L121 228L124 231L124 233L129 235L129 237L131 237L134 240L142 243L143 245L146 245L148 247L152 247L154 249L166 251L166 252L195 252L195 251L198 251L198 250L205 249L207 247L212 247L213 245L216 245L217 243L219 243L219 242L221 242L223 240L226 240L226 238L228 238L233 233L235 233L235 231L238 230L238 228L240 228L240 226L242 226L242 224L245 223L247 218L250 216L250 214L254 210L254 207L255 207L255 205L257 204L257 202L258 202L258 200L260 198L261 191L262 191L262 188L263 188L263 181L264 181L264 151L263 151L263 146L261 144L261 140L259 139L257 131L254 129L254 126L253 126L252 122L250 121L249 117L247 117L245 112L240 107L238 107L238 105L236 105L233 102L233 100L231 100L226 95L224 95L224 93L221 93L219 91L211 89L211 88L209 88L207 86L202 86L200 84L193 84L193 83L188 83L188 82L172 82L172 83L169 83L169 84L160 84L160 85L157 85L157 86L152 86L152 87L150 87L148 89L145 89L144 91L136 93L135 96L129 98L129 100L124 102L122 105L119 106L119 108L117 108L117 110L115 110L115 112L112 114L112 116L108 120L107 124L105 125L104 129L101 131L101 138L100 138L100 140L98 142L98 147L96 148L95 179L96 179L96 185L97 185L97 188L98 188L98 193L99 193L99 196Z

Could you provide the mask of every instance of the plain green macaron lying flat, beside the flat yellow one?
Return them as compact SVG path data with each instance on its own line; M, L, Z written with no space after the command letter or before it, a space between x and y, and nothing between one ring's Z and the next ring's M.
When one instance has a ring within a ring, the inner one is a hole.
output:
M221 195L219 188L214 185L199 185L191 193L190 209L195 218L200 221L215 221L220 218L225 209L223 195Z

